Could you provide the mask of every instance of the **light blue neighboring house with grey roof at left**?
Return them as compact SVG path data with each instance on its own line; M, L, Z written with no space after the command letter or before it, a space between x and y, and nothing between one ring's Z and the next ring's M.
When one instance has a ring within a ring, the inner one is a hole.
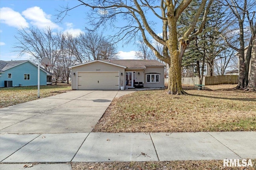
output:
M52 73L40 67L40 85L52 83ZM29 60L0 61L0 87L36 86L38 67Z

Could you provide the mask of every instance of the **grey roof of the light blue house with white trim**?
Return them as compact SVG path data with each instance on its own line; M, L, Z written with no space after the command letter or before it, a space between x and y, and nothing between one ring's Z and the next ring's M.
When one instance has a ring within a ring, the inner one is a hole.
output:
M31 61L29 60L18 60L18 61L0 61L0 72L4 72L12 67L15 67L15 66L18 66L20 64L23 64L23 63L26 63L26 62L30 62L32 63ZM34 63L32 63L34 64ZM37 66L36 64L34 64L35 66ZM54 75L52 74L51 72L45 70L44 68L41 68L41 70L43 70L44 72L47 73L47 75Z

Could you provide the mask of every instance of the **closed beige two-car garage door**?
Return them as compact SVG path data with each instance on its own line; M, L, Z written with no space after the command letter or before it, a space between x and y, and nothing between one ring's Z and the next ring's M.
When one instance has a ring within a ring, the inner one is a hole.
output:
M78 72L78 90L118 90L119 72Z

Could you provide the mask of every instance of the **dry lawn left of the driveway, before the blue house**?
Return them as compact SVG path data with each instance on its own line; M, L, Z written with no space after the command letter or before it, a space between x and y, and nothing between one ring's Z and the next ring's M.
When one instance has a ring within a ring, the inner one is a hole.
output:
M70 85L40 86L40 98L54 96L67 90L71 90ZM0 88L0 108L36 100L38 99L37 93L37 86Z

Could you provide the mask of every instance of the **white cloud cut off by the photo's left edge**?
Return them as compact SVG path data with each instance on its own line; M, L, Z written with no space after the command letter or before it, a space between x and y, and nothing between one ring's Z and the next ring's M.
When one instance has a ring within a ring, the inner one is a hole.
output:
M28 27L28 23L22 15L8 7L0 8L0 21L16 28Z

